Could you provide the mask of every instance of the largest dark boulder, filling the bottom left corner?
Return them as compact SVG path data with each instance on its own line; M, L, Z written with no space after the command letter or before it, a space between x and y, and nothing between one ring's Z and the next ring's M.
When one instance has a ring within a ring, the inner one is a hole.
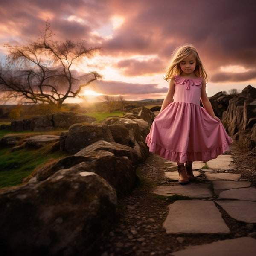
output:
M90 255L115 219L116 192L102 177L61 169L47 180L0 190L4 255Z

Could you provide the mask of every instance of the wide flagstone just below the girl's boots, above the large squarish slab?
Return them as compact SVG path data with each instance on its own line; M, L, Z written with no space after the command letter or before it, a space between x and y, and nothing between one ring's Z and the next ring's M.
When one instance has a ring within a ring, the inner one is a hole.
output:
M183 195L192 198L209 198L212 197L212 192L209 184L187 184L187 185L174 185L174 186L157 186L154 194L172 196Z

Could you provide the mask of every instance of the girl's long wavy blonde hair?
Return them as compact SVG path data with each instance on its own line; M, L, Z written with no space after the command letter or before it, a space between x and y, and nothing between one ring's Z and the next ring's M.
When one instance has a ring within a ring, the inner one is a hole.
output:
M182 45L175 49L172 54L171 62L169 66L166 68L166 76L164 79L166 81L170 81L174 76L181 75L182 70L180 68L180 62L183 61L184 58L187 58L190 54L195 55L196 67L195 67L195 75L201 76L207 81L207 70L205 69L201 59L199 58L198 52L192 45Z

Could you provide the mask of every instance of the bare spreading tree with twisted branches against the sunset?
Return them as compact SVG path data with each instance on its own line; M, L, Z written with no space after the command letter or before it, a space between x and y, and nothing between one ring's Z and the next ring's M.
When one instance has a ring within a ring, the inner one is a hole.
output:
M87 48L85 41L53 41L50 24L37 41L25 46L6 44L9 54L0 64L0 98L15 98L24 103L48 103L60 107L68 98L81 94L81 89L101 78L91 71L78 73L76 64L92 58L101 47Z

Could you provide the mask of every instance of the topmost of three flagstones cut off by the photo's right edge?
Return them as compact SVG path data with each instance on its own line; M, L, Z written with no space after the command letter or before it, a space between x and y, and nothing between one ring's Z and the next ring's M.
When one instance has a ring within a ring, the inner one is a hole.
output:
M218 199L237 199L245 201L256 201L256 188L229 189L220 193Z

